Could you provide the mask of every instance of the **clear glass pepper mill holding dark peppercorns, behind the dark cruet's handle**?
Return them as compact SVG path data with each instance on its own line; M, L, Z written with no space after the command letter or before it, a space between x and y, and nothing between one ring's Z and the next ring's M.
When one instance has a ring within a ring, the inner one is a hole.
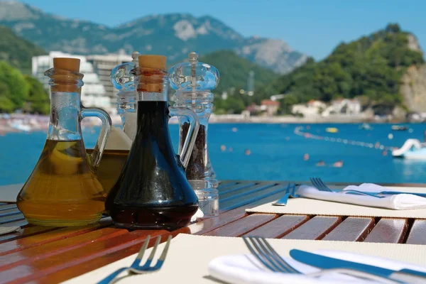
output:
M219 84L219 71L212 65L198 62L197 53L190 53L188 62L182 62L169 70L170 85L176 90L172 97L175 107L192 109L200 121L195 146L192 150L186 176L198 197L204 217L217 216L219 194L217 179L210 163L207 147L207 128L212 114L212 89ZM179 119L180 148L187 136L189 124Z

